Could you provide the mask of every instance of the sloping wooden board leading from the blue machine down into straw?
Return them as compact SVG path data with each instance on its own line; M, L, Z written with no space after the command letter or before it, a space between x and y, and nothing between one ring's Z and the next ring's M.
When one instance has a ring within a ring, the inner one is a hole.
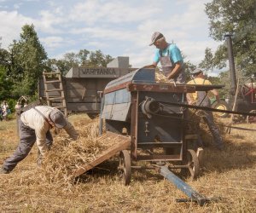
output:
M78 170L75 170L73 172L73 177L77 177L77 176L84 174L84 172L91 170L98 164L102 164L103 161L113 157L116 153L119 153L120 151L125 150L131 146L131 139L129 137L125 137L123 135L118 135L118 134L114 134L114 133L111 133L109 135L109 137L112 137L113 140L118 140L117 144L114 145L113 147L109 147L105 152L103 152L94 161L92 161L88 164L84 164L83 166L80 166ZM104 137L102 138L102 140L104 141Z

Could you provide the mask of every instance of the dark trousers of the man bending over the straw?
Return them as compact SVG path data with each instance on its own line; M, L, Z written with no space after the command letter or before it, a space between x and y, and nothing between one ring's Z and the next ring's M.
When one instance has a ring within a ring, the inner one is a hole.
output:
M15 166L31 151L35 141L37 140L35 130L32 130L30 127L23 124L23 122L19 118L19 134L20 134L20 143L18 147L15 150L15 153L7 158L5 162L3 163L3 169L8 170L9 172L11 170L15 169ZM50 147L52 145L52 135L48 131L46 133L46 145Z

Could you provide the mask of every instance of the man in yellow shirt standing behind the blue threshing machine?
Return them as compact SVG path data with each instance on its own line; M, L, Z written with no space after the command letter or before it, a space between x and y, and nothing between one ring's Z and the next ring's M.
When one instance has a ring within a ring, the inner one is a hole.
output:
M194 71L192 71L191 74L192 74L193 79L190 80L187 84L205 84L205 85L212 84L209 80L207 80L205 78L201 69L197 68ZM210 92L216 96L217 100L219 100L217 89L212 89ZM196 91L195 93L188 93L187 101L188 101L189 105L196 105L196 106L201 106L201 107L211 107L210 99L208 98L207 93L205 91ZM219 130L218 130L216 124L214 123L212 112L211 111L202 111L202 118L207 123L207 126L212 133L216 147L219 150L223 150L224 142L219 134Z

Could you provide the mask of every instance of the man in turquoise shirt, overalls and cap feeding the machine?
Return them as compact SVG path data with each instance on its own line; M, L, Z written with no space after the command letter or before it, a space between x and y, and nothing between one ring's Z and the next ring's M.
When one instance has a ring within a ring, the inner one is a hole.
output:
M180 50L174 43L167 43L166 37L160 32L154 32L151 43L156 48L153 65L160 62L162 70L169 80L175 83L185 83L185 66Z

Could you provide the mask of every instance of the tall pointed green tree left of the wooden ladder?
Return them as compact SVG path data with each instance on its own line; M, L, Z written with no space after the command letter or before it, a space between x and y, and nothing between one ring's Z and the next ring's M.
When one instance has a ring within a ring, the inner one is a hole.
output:
M20 41L10 45L11 77L15 81L13 93L16 96L34 95L38 78L45 69L47 54L33 25L25 25L21 30Z

